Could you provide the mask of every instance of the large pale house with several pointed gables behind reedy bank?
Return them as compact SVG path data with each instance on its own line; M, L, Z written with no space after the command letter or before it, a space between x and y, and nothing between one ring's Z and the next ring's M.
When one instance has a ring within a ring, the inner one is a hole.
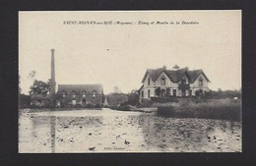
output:
M209 90L210 80L203 70L189 71L188 68L167 70L163 66L159 69L148 69L142 83L138 90L140 101L151 97L197 96Z

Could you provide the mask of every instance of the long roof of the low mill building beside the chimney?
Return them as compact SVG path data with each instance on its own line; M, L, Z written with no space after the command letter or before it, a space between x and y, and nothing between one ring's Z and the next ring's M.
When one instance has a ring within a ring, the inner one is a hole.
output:
M73 91L76 91L77 94L82 94L83 91L91 94L94 90L96 93L102 94L102 84L59 84L57 94L62 94L63 91L67 94L72 94Z

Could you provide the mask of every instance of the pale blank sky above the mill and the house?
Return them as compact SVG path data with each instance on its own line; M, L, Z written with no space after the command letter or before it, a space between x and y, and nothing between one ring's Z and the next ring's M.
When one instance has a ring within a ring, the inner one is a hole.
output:
M64 25L65 21L133 22L131 25ZM138 25L190 22L198 25ZM135 25L135 23L137 23ZM211 89L241 87L241 11L20 12L19 74L22 92L32 80L102 83L105 94L141 86L147 69L163 65L203 69Z

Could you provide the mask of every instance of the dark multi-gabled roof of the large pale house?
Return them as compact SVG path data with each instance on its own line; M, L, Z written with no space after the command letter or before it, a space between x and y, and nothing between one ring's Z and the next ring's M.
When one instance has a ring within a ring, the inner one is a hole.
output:
M155 70L148 69L144 75L142 83L145 82L145 79L148 75L153 80L153 82L156 82L162 72L164 72L173 83L178 83L183 78L184 75L188 78L190 83L194 83L200 74L202 74L206 78L206 80L210 82L210 80L207 78L207 76L201 69L189 71L188 68L182 68L175 71L175 70L165 70L165 68L159 68Z

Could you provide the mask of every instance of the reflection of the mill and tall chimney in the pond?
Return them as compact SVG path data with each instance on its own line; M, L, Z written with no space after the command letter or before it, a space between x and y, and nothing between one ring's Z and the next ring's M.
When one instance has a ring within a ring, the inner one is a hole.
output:
M49 140L51 152L55 152L56 143L59 140L69 139L76 130L73 128L92 128L98 127L96 131L101 131L102 117L71 117L71 116L32 116L32 137L38 139L35 141L47 141ZM44 129L47 129L45 138ZM41 131L43 130L43 131ZM61 135L57 136L56 130L61 132ZM75 133L74 133L75 134ZM49 138L47 138L49 136ZM76 136L74 136L76 137ZM46 140L47 139L47 140ZM40 147L36 147L40 148Z

